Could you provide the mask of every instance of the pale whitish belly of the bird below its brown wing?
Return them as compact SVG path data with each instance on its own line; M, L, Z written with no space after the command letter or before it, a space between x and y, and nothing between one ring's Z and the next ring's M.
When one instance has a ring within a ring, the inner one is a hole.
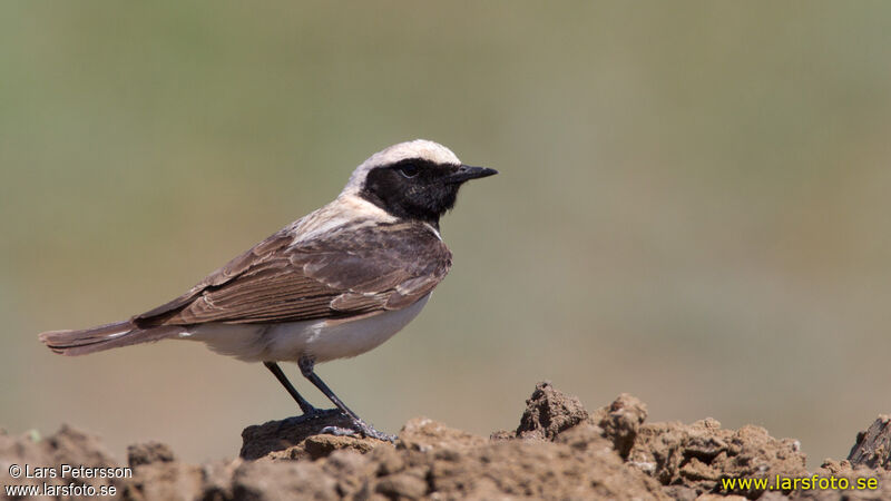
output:
M409 307L354 321L206 324L179 337L204 342L215 352L246 362L296 362L309 355L320 363L356 356L380 346L418 316L429 298L430 294Z

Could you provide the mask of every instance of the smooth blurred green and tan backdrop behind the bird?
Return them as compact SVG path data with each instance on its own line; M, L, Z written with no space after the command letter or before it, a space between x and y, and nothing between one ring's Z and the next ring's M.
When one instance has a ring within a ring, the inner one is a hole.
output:
M424 313L320 367L362 416L488 434L550 379L841 459L891 412L889 47L884 2L3 2L0 425L236 455L296 411L261 365L37 333L177 296L422 137L501 175Z

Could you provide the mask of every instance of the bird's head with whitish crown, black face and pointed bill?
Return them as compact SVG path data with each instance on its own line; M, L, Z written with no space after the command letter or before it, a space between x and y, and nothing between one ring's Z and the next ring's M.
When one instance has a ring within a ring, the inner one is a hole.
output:
M353 171L344 193L398 218L438 226L439 218L454 207L462 184L495 174L495 169L461 164L440 144L417 139L372 155Z

